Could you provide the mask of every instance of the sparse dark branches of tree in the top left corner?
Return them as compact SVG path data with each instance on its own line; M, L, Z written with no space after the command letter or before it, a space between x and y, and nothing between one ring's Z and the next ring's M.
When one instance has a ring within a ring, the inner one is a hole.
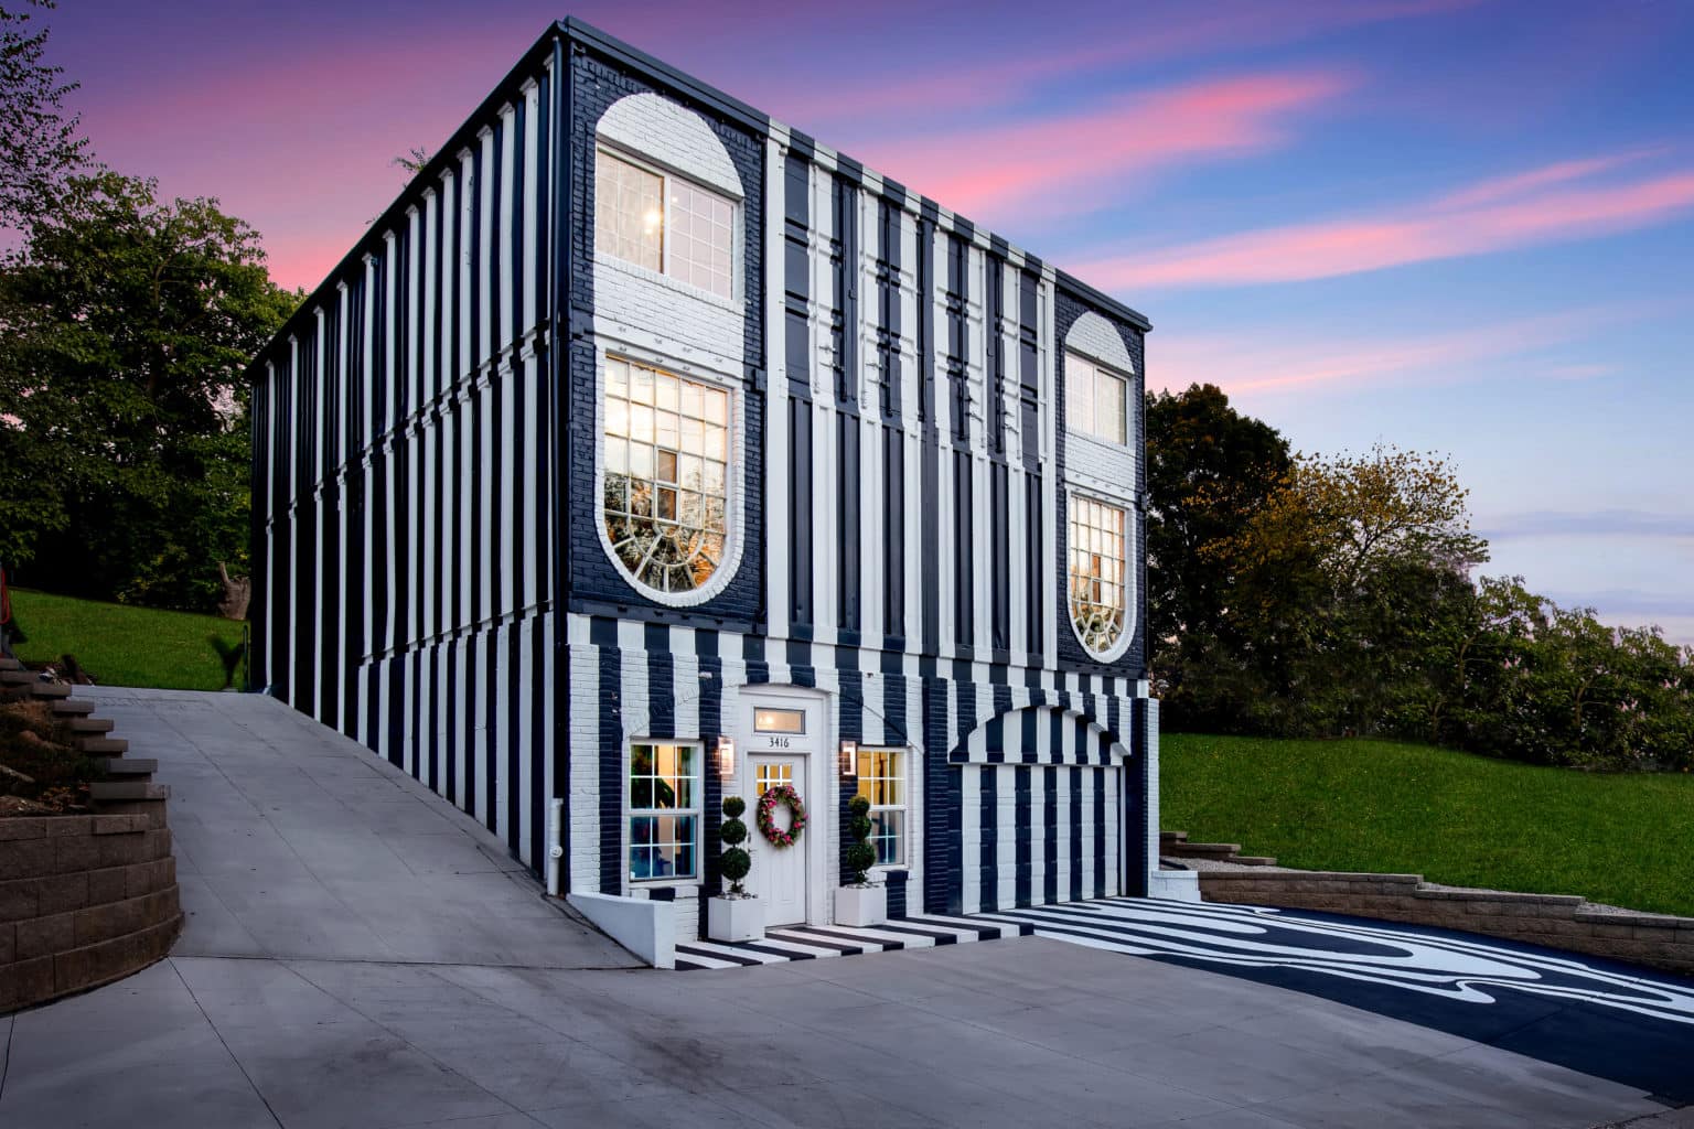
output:
M7 229L39 215L88 151L88 139L78 135L81 118L64 115L64 95L76 83L63 81L64 68L44 63L47 29L30 27L30 8L54 3L24 3L0 7L0 227Z

